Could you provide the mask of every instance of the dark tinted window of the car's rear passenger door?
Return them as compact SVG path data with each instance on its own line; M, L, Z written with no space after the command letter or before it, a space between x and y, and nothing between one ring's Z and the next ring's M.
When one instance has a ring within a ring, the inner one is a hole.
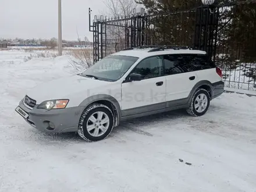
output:
M181 55L163 55L165 62L165 75L187 72L184 60Z

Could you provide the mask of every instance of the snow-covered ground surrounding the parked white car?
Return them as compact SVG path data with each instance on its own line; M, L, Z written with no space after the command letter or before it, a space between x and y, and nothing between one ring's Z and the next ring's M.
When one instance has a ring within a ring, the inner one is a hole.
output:
M224 93L200 118L129 120L86 143L41 133L14 111L35 84L76 73L69 56L28 55L0 51L1 192L256 191L256 97Z

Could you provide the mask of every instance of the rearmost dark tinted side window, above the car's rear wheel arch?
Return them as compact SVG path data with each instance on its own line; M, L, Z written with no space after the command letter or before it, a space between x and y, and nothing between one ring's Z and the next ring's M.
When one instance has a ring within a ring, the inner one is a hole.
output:
M209 61L207 55L183 55L183 58L190 72L215 67L214 63Z

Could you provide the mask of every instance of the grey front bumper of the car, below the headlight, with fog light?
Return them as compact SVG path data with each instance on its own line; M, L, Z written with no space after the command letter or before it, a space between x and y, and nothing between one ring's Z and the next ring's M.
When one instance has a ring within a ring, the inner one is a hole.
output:
M81 106L47 111L45 109L37 109L36 105L33 109L29 109L23 104L23 99L20 101L19 106L29 113L29 117L25 119L29 125L47 133L77 131L79 119L83 112ZM49 122L54 124L54 129L49 126Z

